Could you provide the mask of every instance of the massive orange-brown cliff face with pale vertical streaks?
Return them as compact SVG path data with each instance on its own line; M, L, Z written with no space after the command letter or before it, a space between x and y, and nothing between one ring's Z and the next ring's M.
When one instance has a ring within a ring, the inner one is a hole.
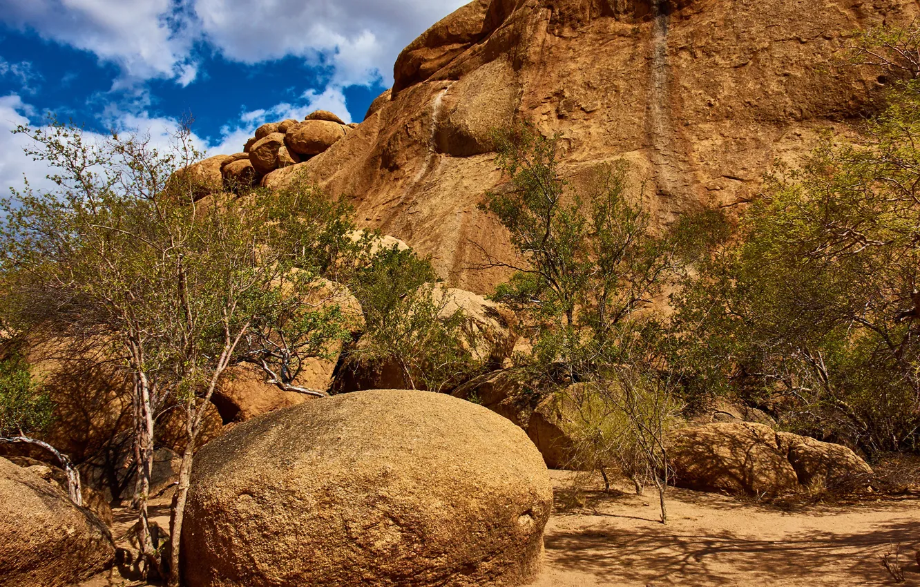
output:
M576 183L626 159L655 222L671 224L755 196L821 129L851 132L884 86L835 55L854 29L917 16L913 0L477 0L406 48L357 129L293 168L355 194L365 224L431 254L452 286L487 293L507 273L469 269L484 260L471 243L513 259L476 207L504 181L492 127L558 132Z

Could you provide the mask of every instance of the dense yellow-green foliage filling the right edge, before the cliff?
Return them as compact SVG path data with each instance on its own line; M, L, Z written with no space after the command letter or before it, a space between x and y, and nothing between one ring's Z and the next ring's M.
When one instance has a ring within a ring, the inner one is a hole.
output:
M905 82L861 144L827 137L768 178L737 239L676 300L688 386L739 390L870 455L915 448L918 132L920 86Z

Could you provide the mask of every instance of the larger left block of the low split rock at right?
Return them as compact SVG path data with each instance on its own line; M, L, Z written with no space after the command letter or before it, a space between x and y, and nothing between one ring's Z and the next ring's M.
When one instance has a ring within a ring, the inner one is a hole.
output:
M674 484L687 489L778 495L799 489L796 470L763 424L716 423L673 432Z

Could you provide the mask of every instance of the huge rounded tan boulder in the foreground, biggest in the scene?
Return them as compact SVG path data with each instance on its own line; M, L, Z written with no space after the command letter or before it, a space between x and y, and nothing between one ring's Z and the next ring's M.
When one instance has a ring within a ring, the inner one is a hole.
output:
M239 424L198 456L190 587L514 585L534 576L546 467L455 397L366 391Z

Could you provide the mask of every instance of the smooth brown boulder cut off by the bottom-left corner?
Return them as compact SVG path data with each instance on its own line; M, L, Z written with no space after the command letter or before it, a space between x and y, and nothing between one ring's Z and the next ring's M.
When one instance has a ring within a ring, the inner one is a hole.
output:
M0 585L57 587L105 569L105 524L35 473L0 458Z

